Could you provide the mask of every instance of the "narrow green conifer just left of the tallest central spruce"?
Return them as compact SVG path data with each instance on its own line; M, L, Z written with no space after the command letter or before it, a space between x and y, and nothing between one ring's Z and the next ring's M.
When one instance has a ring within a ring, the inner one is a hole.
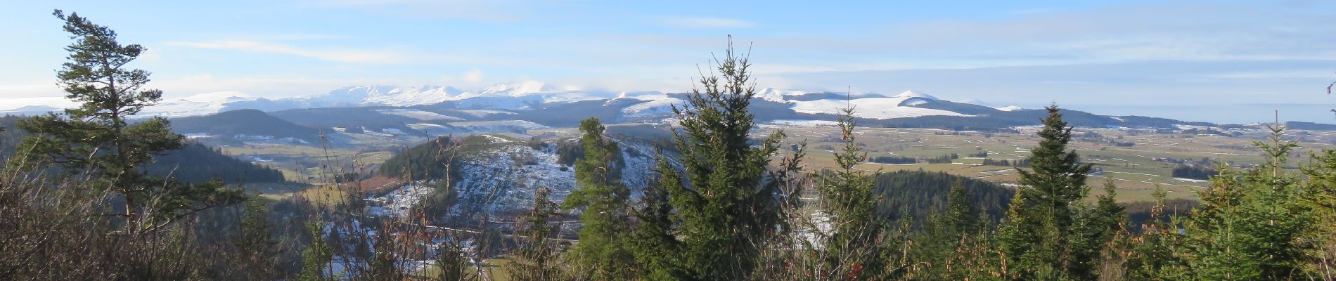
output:
M617 142L603 136L604 127L599 119L580 123L584 132L584 158L576 161L576 184L578 188L561 202L562 209L581 209L580 244L576 245L573 260L576 269L588 272L592 280L631 278L632 256L621 241L629 233L627 200L631 190L609 173L612 153Z

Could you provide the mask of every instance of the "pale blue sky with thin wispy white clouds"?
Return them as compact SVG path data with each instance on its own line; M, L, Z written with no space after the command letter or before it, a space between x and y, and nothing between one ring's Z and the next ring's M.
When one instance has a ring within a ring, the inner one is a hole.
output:
M166 97L350 85L689 91L728 36L760 88L1336 124L1336 1L13 1L0 111L59 105L52 9L148 48Z

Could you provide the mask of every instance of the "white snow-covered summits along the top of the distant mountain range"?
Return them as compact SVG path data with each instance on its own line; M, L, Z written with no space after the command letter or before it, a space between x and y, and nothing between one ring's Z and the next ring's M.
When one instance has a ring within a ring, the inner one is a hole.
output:
M415 107L450 103L461 109L502 109L526 111L552 104L578 101L605 101L605 105L624 105L627 117L652 117L671 113L672 104L683 104L683 95L651 91L599 92L564 89L540 81L502 83L481 91L465 91L454 87L390 87L358 85L345 87L318 95L297 97L265 99L239 92L218 92L180 99L167 99L147 108L143 113L183 117L211 115L234 109L259 109L266 112L305 108L354 108L354 107ZM919 108L930 101L939 101L930 95L906 91L895 96L862 93L846 99L844 93L758 89L756 99L762 101L787 104L798 113L828 115L838 113L846 105L859 108L858 117L899 119L919 116L971 116L969 113ZM31 108L28 108L31 109ZM999 111L1018 109L1015 107L997 108ZM4 112L0 112L3 115ZM17 113L17 112L16 112ZM27 113L27 112L24 112Z

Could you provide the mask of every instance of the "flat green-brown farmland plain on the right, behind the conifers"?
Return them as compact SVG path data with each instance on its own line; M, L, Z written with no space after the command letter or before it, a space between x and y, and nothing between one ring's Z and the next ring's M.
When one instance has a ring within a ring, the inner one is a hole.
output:
M961 158L953 164L862 164L864 170L900 170L923 169L933 172L947 172L953 174L969 176L1002 184L1015 184L1018 173L1011 166L981 165L982 157L969 157L978 152L987 152L987 158L994 160L1021 160L1029 156L1029 148L1034 146L1038 137L1034 129L1021 133L981 133L981 132L953 132L942 129L904 129L904 128L858 128L855 131L856 142L868 153L875 156L894 157L937 157L957 153ZM807 158L804 164L808 169L818 170L834 166L834 149L843 145L838 142L838 128L834 127L790 127L784 128L788 137L782 142L787 149L790 144L807 142ZM1157 158L1201 160L1226 162L1234 168L1244 168L1259 164L1264 158L1261 152L1252 148L1253 141L1263 140L1259 132L1233 136L1189 136L1172 133L1149 133L1145 131L1126 129L1092 129L1077 128L1074 135L1086 132L1098 133L1105 140L1134 142L1133 146L1117 146L1109 142L1073 140L1069 148L1081 154L1082 161L1093 164L1102 173L1093 174L1088 182L1092 186L1102 186L1108 178L1113 178L1118 186L1120 201L1146 201L1152 200L1156 188L1164 188L1169 198L1196 197L1196 190L1204 189L1209 182L1200 180L1174 178L1170 172L1177 164L1157 161ZM1289 132L1296 133L1296 132ZM1329 136L1328 132L1307 132L1313 136ZM756 135L758 137L760 135ZM1333 145L1317 142L1300 142L1305 149L1332 148ZM787 152L787 150L786 150ZM1303 157L1303 156L1300 156ZM1292 158L1289 162L1304 162L1303 158ZM1096 192L1097 193L1097 192Z

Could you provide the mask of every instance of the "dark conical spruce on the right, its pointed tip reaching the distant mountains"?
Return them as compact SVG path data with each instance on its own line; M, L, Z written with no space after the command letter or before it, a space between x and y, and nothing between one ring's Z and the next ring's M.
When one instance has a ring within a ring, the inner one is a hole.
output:
M1031 170L1021 173L1021 188L1011 201L1003 228L1003 240L1011 272L1019 278L1082 278L1096 274L1094 261L1078 257L1073 240L1081 240L1077 214L1081 198L1089 194L1085 185L1090 164L1081 164L1075 150L1067 150L1071 128L1062 121L1057 105L1046 108L1039 144L1030 150Z

